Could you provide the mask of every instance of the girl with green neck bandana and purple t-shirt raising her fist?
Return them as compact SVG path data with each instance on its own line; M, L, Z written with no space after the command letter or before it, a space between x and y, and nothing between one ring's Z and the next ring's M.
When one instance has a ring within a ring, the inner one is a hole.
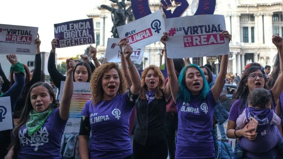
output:
M67 59L67 76L60 107L48 84L37 82L31 86L5 158L62 158L60 144L70 112L74 68L75 62Z

